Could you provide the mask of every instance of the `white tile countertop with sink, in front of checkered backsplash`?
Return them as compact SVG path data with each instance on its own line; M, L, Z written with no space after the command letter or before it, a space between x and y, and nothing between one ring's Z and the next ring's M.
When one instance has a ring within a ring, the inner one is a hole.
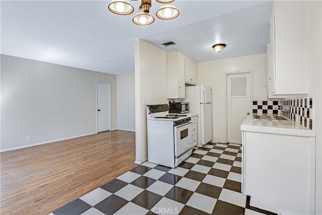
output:
M259 114L256 114L259 115ZM270 114L268 114L270 115ZM271 114L272 115L272 114ZM282 115L279 115L282 116ZM293 136L312 136L315 137L315 130L296 123L295 121L286 118L287 120L277 119L255 119L254 114L247 117L247 119L240 125L242 131L253 131L261 133L276 133Z

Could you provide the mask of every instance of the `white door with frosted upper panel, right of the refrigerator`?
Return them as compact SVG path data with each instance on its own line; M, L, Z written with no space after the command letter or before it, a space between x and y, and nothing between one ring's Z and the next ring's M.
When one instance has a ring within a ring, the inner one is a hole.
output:
M251 114L252 74L227 74L227 142L241 144L240 125Z

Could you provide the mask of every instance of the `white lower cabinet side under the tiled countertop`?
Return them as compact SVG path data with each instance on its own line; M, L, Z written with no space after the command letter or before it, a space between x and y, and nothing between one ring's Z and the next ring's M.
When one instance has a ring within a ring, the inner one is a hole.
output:
M243 131L243 193L251 206L314 214L315 137Z

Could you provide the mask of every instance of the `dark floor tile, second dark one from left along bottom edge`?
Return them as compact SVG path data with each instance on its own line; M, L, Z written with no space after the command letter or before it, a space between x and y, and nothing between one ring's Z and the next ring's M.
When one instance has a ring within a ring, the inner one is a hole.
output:
M114 214L128 202L129 201L125 200L124 198L113 194L103 201L97 203L94 207L105 214Z

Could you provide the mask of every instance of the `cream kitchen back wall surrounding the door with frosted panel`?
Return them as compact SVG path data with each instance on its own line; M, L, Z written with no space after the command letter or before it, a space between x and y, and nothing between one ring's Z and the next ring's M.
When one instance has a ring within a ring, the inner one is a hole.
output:
M266 100L266 54L197 63L197 84L212 87L212 141L225 142L225 76L253 70L253 100Z

